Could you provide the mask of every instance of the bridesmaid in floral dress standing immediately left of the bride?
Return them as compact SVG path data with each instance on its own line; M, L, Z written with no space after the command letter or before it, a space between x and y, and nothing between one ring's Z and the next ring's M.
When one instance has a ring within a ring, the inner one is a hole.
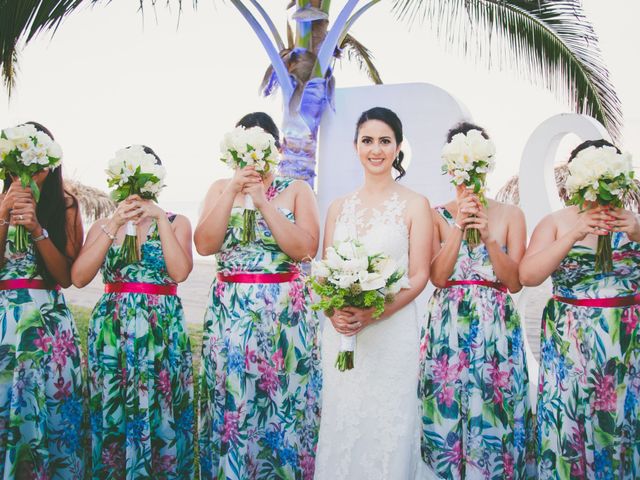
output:
M245 116L278 139L264 113ZM257 209L242 244L243 196ZM205 315L200 391L201 479L313 478L321 375L318 320L298 265L315 256L318 212L309 186L246 168L215 182L195 244L216 254Z

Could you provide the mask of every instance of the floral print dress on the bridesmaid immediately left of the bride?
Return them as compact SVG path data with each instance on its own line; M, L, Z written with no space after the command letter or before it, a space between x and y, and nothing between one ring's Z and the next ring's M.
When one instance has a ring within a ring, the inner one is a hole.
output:
M292 182L276 177L272 200ZM280 209L293 222L293 213ZM257 212L256 241L243 245L234 208L218 272L297 269ZM204 322L200 399L201 479L313 478L321 373L318 320L304 282L213 281Z

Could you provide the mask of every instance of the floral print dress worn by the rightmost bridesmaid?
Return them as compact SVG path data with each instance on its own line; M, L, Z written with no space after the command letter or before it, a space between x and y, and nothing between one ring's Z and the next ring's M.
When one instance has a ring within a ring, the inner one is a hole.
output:
M552 274L554 295L638 294L640 244L613 237L613 271L574 245ZM538 396L541 479L640 478L640 306L594 308L551 299L542 318Z

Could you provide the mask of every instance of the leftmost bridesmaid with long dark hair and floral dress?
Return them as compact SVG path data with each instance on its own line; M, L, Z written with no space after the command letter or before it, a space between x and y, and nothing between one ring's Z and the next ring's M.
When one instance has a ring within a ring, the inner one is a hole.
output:
M38 204L17 179L0 195L0 478L83 478L80 341L60 292L71 285L82 222L62 167L33 180ZM15 249L17 225L30 235L26 253Z

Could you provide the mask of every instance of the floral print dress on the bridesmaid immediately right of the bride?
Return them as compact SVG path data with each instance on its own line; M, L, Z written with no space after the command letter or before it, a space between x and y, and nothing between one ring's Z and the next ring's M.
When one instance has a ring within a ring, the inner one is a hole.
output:
M454 219L436 209L450 225ZM484 244L463 239L450 280L497 282ZM422 457L439 478L533 476L533 418L520 318L495 288L436 289L421 345ZM531 464L528 464L531 463Z

